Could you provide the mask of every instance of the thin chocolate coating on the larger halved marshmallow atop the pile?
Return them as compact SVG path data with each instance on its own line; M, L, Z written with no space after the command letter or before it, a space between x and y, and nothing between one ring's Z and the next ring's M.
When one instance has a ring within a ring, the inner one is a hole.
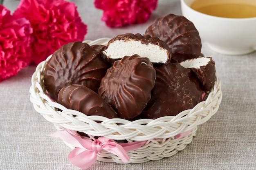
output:
M112 38L108 42L108 45L111 44L112 42L115 42L116 40L127 40L127 41L135 40L135 41L141 42L141 44L146 44L146 45L147 44L153 44L153 45L159 46L162 49L166 49L167 51L170 51L169 46L164 41L160 40L157 37L151 37L150 35L141 35L140 33L137 33L137 34L132 34L132 33L120 34L120 35L117 35L115 38ZM106 49L108 49L108 45L107 45ZM168 55L168 60L166 61L165 64L169 63L170 60L171 60L170 54L167 53L167 55Z

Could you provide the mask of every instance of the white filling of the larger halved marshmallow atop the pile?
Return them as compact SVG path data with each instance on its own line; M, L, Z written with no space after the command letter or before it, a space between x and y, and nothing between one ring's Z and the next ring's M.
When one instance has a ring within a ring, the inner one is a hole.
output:
M137 54L141 57L148 57L153 63L166 63L169 59L168 50L150 43L142 44L136 40L115 40L108 44L108 48L103 53L111 59Z

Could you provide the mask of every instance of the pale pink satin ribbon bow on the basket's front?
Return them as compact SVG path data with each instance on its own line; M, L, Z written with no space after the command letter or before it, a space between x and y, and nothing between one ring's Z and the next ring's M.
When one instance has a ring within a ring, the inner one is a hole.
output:
M52 137L57 137L63 141L76 146L68 155L70 162L81 169L89 168L97 159L97 153L103 150L111 152L121 158L123 162L128 162L130 157L126 151L135 150L143 146L146 141L135 141L126 144L117 144L106 137L99 137L92 141L76 135L71 130L60 130L52 133Z

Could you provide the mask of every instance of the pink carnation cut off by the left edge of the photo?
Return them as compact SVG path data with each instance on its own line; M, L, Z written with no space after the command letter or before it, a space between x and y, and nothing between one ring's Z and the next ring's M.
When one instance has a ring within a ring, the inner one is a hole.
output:
M0 82L28 66L32 28L25 18L15 19L0 5Z

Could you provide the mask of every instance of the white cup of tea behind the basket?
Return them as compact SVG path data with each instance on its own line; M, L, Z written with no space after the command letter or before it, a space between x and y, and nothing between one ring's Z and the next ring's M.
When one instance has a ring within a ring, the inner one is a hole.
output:
M256 17L222 18L191 9L194 0L181 0L182 15L193 22L202 42L226 55L243 55L256 50ZM255 3L256 0L251 1Z

